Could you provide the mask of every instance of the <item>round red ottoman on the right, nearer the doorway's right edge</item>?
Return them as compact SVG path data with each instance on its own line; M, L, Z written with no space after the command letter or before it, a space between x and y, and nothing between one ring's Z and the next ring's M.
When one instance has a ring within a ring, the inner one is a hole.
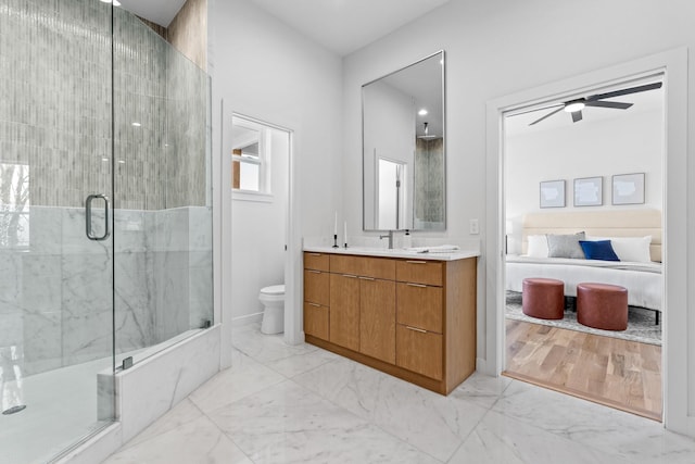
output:
M604 330L628 328L628 290L617 285L579 284L577 321Z

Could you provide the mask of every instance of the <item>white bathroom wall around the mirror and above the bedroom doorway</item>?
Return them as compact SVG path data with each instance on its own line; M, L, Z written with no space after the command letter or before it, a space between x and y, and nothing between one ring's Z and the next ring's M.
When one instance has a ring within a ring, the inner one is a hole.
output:
M582 21L579 34L568 33L576 30L577 18L591 11L601 14ZM443 235L467 236L469 220L480 218L484 237L486 210L492 208L485 201L486 102L664 50L693 48L692 17L695 2L688 0L452 0L348 57L342 172L349 224L359 224L362 211L359 196L354 193L362 181L363 84L437 50L446 51L447 230ZM691 75L694 63L691 59ZM690 92L688 106L695 110L695 92ZM691 130L692 140L695 128ZM690 184L695 185L695 178ZM494 277L485 275L486 260L483 255L478 268L477 348L483 362L488 330L484 289L496 285Z

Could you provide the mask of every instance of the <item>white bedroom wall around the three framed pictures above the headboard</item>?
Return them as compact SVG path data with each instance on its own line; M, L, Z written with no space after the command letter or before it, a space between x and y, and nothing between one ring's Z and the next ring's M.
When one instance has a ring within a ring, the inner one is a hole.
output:
M601 121L585 117L569 126L507 137L506 216L514 230L509 236L509 253L521 252L521 222L527 213L644 208L660 211L662 133L662 112L649 111ZM631 173L645 173L645 204L612 205L611 176ZM573 180L599 176L603 177L603 205L574 206ZM566 208L541 210L539 183L544 180L565 180Z

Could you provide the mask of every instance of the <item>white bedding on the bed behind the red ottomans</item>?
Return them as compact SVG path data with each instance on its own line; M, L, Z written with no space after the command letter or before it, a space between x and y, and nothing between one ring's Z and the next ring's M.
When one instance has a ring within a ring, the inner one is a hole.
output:
M660 263L508 255L506 274L507 290L520 292L527 277L563 280L569 297L577 296L577 284L612 284L628 289L628 304L661 311Z

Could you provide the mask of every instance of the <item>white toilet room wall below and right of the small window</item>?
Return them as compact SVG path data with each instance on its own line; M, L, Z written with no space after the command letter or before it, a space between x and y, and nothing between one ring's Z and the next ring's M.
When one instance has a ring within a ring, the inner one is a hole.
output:
M231 317L235 324L258 321L263 311L258 291L269 285L285 284L290 146L287 133L277 129L270 133L270 201L232 200L231 204Z

